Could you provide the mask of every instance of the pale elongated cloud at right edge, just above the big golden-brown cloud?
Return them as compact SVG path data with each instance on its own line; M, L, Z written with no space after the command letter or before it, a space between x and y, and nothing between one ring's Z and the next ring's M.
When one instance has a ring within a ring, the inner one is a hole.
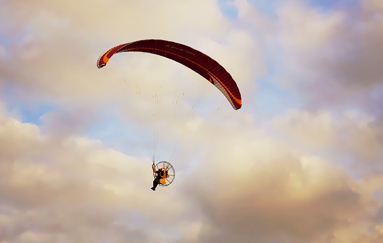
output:
M381 171L378 161L382 158L382 125L374 117L356 110L343 114L291 110L283 117L275 117L272 124L298 146L352 157L358 167L364 167L360 172L372 168Z

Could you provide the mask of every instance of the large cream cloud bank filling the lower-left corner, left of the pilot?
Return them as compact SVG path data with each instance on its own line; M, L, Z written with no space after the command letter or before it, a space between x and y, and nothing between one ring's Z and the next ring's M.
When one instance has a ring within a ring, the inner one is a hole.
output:
M38 126L4 115L0 138L2 241L162 242L148 212L158 202L170 206L162 220L169 225L184 211L171 192L153 198L147 159L82 137L41 135Z

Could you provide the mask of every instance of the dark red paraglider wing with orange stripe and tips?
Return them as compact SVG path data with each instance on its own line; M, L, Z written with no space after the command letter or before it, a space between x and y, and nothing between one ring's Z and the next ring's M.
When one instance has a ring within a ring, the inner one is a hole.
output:
M211 57L196 49L157 39L134 41L104 52L97 60L97 67L104 67L109 59L119 52L148 52L172 59L209 80L226 96L234 109L242 106L241 93L230 73Z

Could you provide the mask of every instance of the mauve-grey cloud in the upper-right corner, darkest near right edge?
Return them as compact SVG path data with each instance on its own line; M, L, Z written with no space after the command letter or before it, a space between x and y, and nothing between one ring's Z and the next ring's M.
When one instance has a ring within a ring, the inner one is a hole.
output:
M287 16L301 16L295 15L292 10L287 13L290 15L280 15L281 23L288 20ZM294 48L289 44L288 48L293 50L290 57L296 60L295 67L288 67L306 73L294 79L301 83L302 91L314 104L336 106L347 102L374 111L374 103L381 103L381 99L374 101L369 97L369 91L378 87L383 77L378 67L383 51L379 44L382 41L382 22L378 16L381 14L378 9L362 7L355 15L352 12L333 12L327 16L316 13L322 19L314 17L301 20L301 24L292 24L299 30L304 27L303 24L319 24L310 28L315 30L315 34L303 33L298 38L311 46L305 47L301 43L299 48ZM291 31L284 36L294 40ZM291 83L296 84L299 85Z

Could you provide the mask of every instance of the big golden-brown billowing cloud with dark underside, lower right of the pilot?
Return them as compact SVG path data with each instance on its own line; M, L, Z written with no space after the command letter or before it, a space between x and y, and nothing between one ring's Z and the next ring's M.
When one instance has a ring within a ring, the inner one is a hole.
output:
M211 148L188 189L205 215L198 242L326 242L367 214L357 184L329 161L260 132L235 138Z

